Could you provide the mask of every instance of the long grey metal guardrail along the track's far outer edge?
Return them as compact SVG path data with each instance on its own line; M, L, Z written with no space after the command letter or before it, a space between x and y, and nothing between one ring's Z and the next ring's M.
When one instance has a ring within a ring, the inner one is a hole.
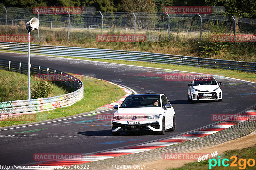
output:
M0 49L27 52L28 45L24 43L1 42ZM160 53L108 50L97 48L80 48L67 46L44 46L35 44L31 45L31 53L56 56L85 57L95 59L145 61L163 64L177 64L195 67L222 68L231 70L242 70L247 72L256 72L256 63L253 62L218 60Z

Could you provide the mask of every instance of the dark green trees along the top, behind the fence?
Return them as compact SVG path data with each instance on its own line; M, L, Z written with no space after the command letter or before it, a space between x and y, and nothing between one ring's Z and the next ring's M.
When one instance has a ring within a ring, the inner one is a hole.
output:
M93 6L96 11L105 12L163 12L164 6L224 6L226 12L221 15L256 18L255 0L3 0L0 6Z

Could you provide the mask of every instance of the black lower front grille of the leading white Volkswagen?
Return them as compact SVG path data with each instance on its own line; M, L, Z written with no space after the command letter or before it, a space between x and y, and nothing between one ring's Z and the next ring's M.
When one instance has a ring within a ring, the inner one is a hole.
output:
M116 123L116 122L112 123L112 129L113 130L118 128L118 127L120 127L120 126L121 126L121 128L119 129L119 131L120 130L121 131L150 130L148 128L148 126L151 126L151 127L155 128L155 129L159 129L160 128L160 125L159 125L158 122L157 123L148 123L148 124L120 124L120 123Z

